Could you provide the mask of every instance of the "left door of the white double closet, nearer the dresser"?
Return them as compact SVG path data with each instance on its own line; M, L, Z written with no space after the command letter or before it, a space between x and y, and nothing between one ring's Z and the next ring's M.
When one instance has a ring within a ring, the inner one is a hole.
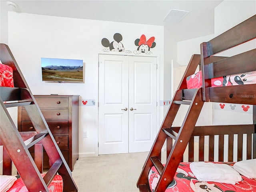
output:
M128 57L100 55L99 74L99 154L127 153Z

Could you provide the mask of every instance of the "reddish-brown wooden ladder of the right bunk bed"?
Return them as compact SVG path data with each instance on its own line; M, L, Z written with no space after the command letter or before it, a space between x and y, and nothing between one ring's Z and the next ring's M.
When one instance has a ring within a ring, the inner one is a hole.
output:
M204 105L202 100L202 88L186 89L186 78L193 74L196 67L200 64L200 55L193 55L188 67L182 77L178 90L175 92L168 113L164 118L164 122L158 132L156 140L150 150L148 158L144 164L142 173L137 182L137 187L141 192L149 192L148 172L152 166L155 166L160 179L155 191L164 191L172 182L174 174L179 163L183 158L183 153L194 131L198 116ZM189 105L187 114L184 118L182 126L178 132L172 129L172 123L181 105ZM175 140L174 146L168 144L166 164L161 163L161 149L167 140Z

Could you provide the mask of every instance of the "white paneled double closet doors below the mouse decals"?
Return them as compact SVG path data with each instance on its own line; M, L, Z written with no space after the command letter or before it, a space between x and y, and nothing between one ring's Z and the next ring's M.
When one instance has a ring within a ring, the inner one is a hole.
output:
M156 57L99 55L99 154L149 151L156 137Z

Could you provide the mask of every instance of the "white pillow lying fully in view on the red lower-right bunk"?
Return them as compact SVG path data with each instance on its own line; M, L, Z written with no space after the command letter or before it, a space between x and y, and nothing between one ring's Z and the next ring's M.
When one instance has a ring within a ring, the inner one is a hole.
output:
M227 164L192 162L190 169L199 181L236 184L242 180L241 175Z

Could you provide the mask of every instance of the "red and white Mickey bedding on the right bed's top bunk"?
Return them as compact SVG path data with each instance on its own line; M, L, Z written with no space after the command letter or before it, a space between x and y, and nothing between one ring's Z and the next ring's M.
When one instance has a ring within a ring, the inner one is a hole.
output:
M186 78L186 82L188 89L200 88L202 86L202 71L188 76ZM256 84L256 71L212 78L207 80L205 83L207 87Z

